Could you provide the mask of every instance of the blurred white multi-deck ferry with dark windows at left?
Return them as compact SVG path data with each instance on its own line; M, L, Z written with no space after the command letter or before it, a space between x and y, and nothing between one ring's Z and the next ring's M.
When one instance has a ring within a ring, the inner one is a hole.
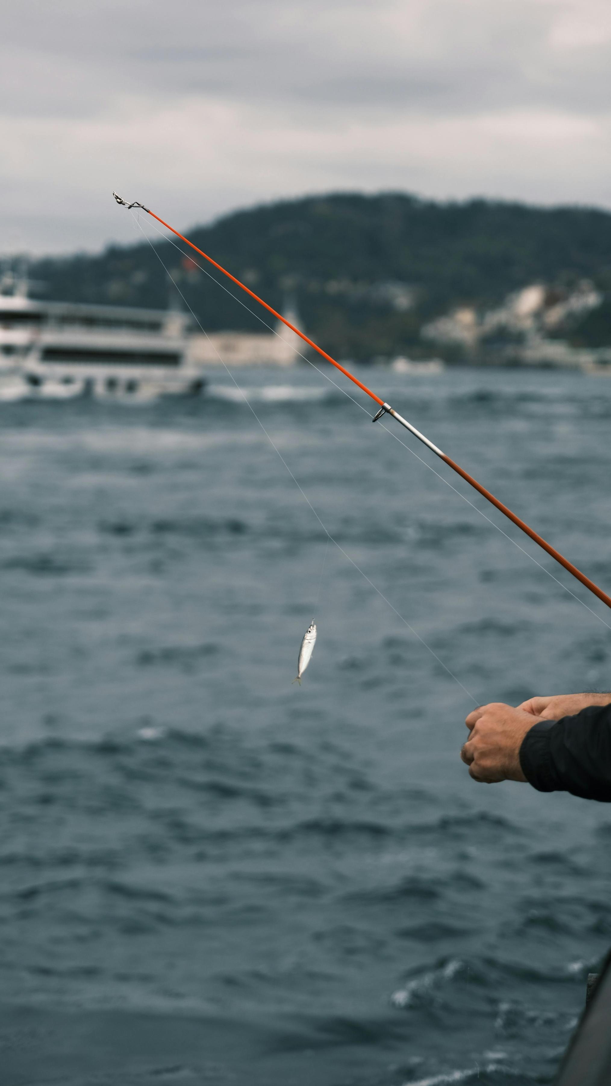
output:
M173 310L44 302L12 275L0 283L0 400L155 397L200 392L190 318Z

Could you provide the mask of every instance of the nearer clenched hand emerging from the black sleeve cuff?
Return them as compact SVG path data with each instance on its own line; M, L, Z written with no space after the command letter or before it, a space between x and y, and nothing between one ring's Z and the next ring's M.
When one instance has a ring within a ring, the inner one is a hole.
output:
M474 781L525 781L520 765L520 747L527 731L537 722L531 712L493 702L470 712L464 723L470 735L460 757Z

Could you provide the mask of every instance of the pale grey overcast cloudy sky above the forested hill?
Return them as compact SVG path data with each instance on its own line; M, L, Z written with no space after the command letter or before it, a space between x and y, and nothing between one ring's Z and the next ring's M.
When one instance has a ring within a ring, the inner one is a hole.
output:
M611 207L611 0L18 0L0 251L329 190Z

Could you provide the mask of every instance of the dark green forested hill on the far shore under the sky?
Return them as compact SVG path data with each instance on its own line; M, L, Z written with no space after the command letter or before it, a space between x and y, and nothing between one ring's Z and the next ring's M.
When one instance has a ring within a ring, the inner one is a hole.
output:
M593 209L338 193L239 211L187 233L276 307L296 301L304 327L342 357L409 351L423 321L460 304L494 305L527 283L571 288L587 277L611 290L611 214ZM158 250L206 329L262 329L175 248ZM168 303L147 242L37 261L30 274L49 299Z

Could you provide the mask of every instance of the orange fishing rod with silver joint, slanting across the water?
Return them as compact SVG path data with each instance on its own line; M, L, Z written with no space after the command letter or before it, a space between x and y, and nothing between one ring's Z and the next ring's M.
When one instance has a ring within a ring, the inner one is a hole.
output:
M213 260L212 256L208 256L207 253L204 253L203 249L199 249L199 247L195 245L194 242L189 241L189 238L186 238L183 233L180 233L178 230L176 230L174 226L170 226L169 223L166 223L163 218L160 218L158 215L155 215L155 213L151 211L150 207L144 207L144 204L138 203L138 201L136 200L132 203L128 203L127 200L123 200L122 197L117 195L116 192L113 192L113 197L115 198L117 204L122 204L124 207L127 207L128 211L131 211L133 207L136 207L145 212L147 215L150 215L152 218L156 219L157 223L161 223L161 225L166 228L166 230L169 230L170 233L174 233L177 238L180 238L180 240L183 241L184 244L193 249L196 253L200 254L200 256L203 256L204 260L208 262L208 264L212 264L213 267L215 267L218 272L221 272L222 275L227 276L228 279L231 279L231 281L234 282L237 287L240 287L240 289L245 291L246 294L250 294L251 298L253 298L255 302L262 305L264 310L267 310L267 312L271 313L271 315L276 317L277 320L280 320L283 325L287 326L287 328L290 328L290 330L294 332L295 336L298 336L300 339L304 341L304 343L307 343L308 346L310 346L314 351L316 351L317 354L319 354L322 358L326 359L326 362L331 363L331 365L334 366L335 369L339 369L340 372L344 375L344 377L347 377L348 380L353 382L353 384L356 384L362 392L367 393L367 395L370 396L371 400L373 400L379 405L379 411L373 416L371 420L372 422L377 422L378 419L382 418L386 414L392 415L392 417L396 419L396 421L399 422L400 426L405 427L406 430L409 430L409 432L412 433L415 438L418 438L418 441L421 441L423 445L427 445L427 449L430 449L431 452L435 454L435 456L437 456L441 460L443 460L444 464L447 464L448 467L453 469L453 471L456 471L456 473L459 475L461 479L464 479L464 481L468 482L470 487L473 487L473 489L476 490L478 493L482 494L482 496L485 497L486 501L491 503L491 505L494 505L500 513L504 514L504 516L506 516L509 520L511 520L512 523L514 523L521 531L523 531L526 535L529 535L538 546L540 546L544 551L546 551L547 554L549 554L557 563L559 563L560 566L562 566L565 570L568 570L568 572L571 573L574 578L576 578L577 581L581 581L581 583L584 584L585 588L589 590L589 592L593 592L595 596L598 596L598 598L601 599L603 604L607 604L607 606L611 608L611 596L609 596L606 592L603 592L602 589L599 589L598 584L596 584L593 580L590 580L589 577L586 577L585 573L582 573L581 569L577 569L577 567L574 566L572 561L569 561L568 558L565 558L562 554L560 554L560 551L557 551L556 547L551 546L550 543L544 540L543 535L539 535L539 533L535 532L533 528L530 528L529 525L524 520L522 520L521 517L517 516L515 513L512 513L511 509L502 502L500 502L498 497L495 497L494 494L489 492L489 490L486 490L485 487L482 487L482 484L478 482L478 480L474 479L473 476L469 475L469 472L466 471L464 468L461 468L460 465L456 463L456 460L453 460L451 457L448 456L446 453L442 452L442 450L438 449L437 445L434 445L433 442L429 440L429 438L427 438L423 433L420 433L420 430L417 430L416 427L412 426L411 422L408 422L407 419L403 417L403 415L399 415L398 412L394 409L394 407L391 407L391 405L386 403L384 400L382 400L379 395L377 395L375 392L372 392L371 389L367 387L367 384L364 384L362 381L359 381L358 377L355 377L354 374L351 374L349 369L346 369L345 366L342 366L341 363L336 362L335 358L332 358L330 354L327 354L327 351L323 351L322 348L318 345L318 343L315 343L314 340L309 339L309 337L306 336L305 332L302 332L298 328L295 327L295 325L292 325L290 320L287 320L287 318L283 317L281 313L278 313L277 310L275 310L271 305L265 302L263 298L259 298L258 294L255 294L254 290L251 290L250 287L246 287L245 283L241 282L240 279L238 279L234 275L232 275L231 272L228 272L227 268L224 268L222 265L218 264L217 261Z

